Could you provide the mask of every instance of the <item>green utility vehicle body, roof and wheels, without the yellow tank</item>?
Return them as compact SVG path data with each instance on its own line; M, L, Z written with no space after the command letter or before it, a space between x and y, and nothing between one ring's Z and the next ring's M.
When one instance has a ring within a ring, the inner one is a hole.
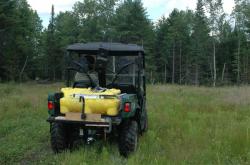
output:
M94 55L95 70L98 73L99 86L102 88L116 88L121 90L121 106L117 116L107 116L99 114L85 114L84 98L79 101L83 104L82 113L61 114L60 99L63 93L53 93L48 96L47 121L50 123L51 145L55 152L61 152L67 148L73 148L75 141L82 137L88 142L89 137L103 137L115 135L118 137L119 151L123 156L128 156L134 152L138 144L138 135L147 130L148 119L146 111L146 82L145 82L145 52L142 47L134 44L122 43L77 43L67 47L67 87L81 88L81 82L71 83L71 72L77 71L85 73L91 84L91 88L96 87L93 80L88 75L86 68L78 61L74 60L72 54L80 56ZM119 57L134 58L134 61L120 67L113 75L111 83L107 83L107 67L110 59ZM133 83L120 83L119 74L130 66L136 66L133 70ZM103 96L105 97L105 96Z

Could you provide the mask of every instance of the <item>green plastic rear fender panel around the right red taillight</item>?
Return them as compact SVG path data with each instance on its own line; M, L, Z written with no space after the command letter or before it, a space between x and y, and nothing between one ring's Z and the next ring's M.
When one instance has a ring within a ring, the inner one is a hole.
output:
M131 104L131 111L124 112L124 105L125 103ZM134 117L136 114L136 110L139 108L138 99L136 94L124 94L121 96L121 109L120 109L120 116L123 119Z

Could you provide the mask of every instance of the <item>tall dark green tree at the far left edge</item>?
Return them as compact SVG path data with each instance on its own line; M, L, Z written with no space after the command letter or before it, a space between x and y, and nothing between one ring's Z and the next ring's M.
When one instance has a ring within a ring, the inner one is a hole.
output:
M26 0L1 1L1 57L3 79L21 80L24 73L29 77L31 72L25 72L37 55L41 21ZM3 14L2 14L3 13ZM3 37L2 37L3 36Z

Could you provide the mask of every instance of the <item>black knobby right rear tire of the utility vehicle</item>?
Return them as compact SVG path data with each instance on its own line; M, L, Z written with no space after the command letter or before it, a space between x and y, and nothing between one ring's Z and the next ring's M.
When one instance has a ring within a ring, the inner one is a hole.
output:
M138 124L134 120L124 121L119 133L119 151L124 157L136 151L138 145Z

